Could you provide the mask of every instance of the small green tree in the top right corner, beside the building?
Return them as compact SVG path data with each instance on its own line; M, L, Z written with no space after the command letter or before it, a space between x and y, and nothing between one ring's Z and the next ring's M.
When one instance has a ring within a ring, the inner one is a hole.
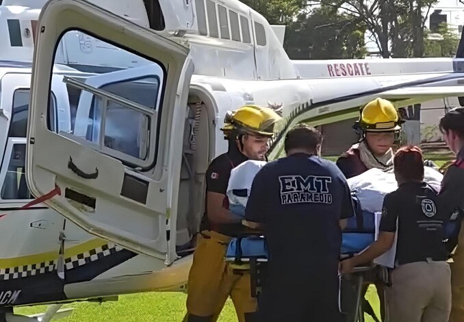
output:
M454 57L459 45L459 36L450 31L446 23L441 23L437 27L437 36L442 39L436 40L430 36L430 31L426 30L424 45L425 57Z

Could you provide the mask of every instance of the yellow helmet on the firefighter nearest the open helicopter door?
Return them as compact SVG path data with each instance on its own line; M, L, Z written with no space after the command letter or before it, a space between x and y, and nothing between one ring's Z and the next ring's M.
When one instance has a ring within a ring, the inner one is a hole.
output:
M272 108L263 108L257 105L246 105L237 110L227 112L224 117L224 126L222 132L232 132L239 130L244 132L253 132L263 136L272 136L274 134L277 121L281 120Z

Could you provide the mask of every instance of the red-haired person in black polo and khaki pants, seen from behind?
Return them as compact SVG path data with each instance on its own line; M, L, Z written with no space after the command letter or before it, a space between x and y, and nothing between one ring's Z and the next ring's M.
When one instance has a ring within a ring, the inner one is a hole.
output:
M391 249L398 227L392 286L387 288L389 321L448 321L451 271L443 244L443 225L436 192L424 183L424 160L418 147L402 147L394 156L398 189L385 195L380 233L366 251L341 262L350 273Z

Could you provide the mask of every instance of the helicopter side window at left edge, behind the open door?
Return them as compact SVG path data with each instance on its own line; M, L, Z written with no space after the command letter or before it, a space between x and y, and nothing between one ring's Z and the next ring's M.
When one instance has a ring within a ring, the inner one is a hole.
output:
M31 199L25 177L25 153L27 135L27 113L29 110L29 89L18 89L13 95L12 116L8 129L5 158L1 169L0 197L3 200ZM51 93L50 128L55 130L55 95ZM8 162L8 163L6 163Z

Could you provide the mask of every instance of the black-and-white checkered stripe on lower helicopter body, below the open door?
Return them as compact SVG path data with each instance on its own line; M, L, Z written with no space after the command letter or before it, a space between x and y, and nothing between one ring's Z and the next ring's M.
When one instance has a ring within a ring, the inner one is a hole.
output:
M64 267L66 271L70 269L76 269L90 262L99 260L105 256L112 255L116 251L121 251L123 248L114 244L108 243L101 247L90 249L83 253L77 254L77 256L71 256L70 258L64 258ZM65 251L66 254L66 251ZM58 259L49 260L47 262L41 262L38 264L29 264L20 267L10 267L7 269L0 269L0 281L3 280L14 280L20 277L34 276L43 273L49 273L56 271Z

